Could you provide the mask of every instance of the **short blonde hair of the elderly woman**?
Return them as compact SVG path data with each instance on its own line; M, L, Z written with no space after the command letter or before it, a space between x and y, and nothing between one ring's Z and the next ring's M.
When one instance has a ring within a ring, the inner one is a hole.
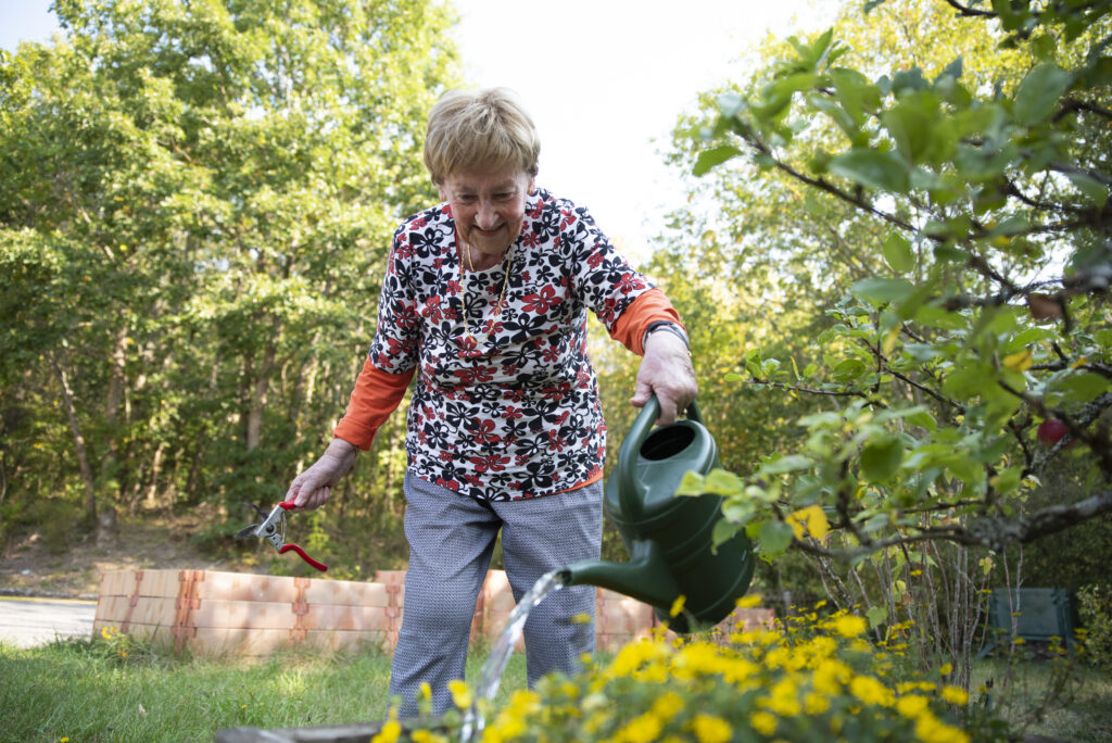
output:
M539 155L537 128L508 88L449 90L428 115L425 167L437 185L474 168L520 168L533 177Z

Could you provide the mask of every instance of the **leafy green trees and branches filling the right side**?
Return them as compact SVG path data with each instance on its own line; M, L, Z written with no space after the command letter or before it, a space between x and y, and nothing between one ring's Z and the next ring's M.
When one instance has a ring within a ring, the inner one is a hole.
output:
M855 46L834 29L792 39L717 97L713 120L685 122L702 131L677 157L715 178L719 202L766 207L735 228L735 278L794 287L830 323L813 366L761 348L737 365L752 385L821 400L798 443L685 492L725 496L718 538L745 529L767 557L813 556L838 603L870 592L840 584L832 561L856 581L883 567L867 607L878 627L946 581L962 598L921 632L953 633L927 644L967 681L979 571L1112 511L1112 3L864 7ZM847 18L837 31L853 37ZM960 39L967 57L931 57L947 44L924 37ZM1066 432L1050 446L1046 419ZM1066 457L1084 489L1029 507Z

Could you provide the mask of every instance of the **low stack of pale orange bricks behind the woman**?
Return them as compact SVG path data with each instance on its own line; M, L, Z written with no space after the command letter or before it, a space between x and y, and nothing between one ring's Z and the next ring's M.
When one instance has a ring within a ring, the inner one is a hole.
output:
M616 650L653 632L652 607L596 588L596 646ZM503 571L490 571L475 605L473 641L494 641L514 610ZM93 636L105 628L172 644L196 655L260 656L290 646L365 645L391 651L405 610L405 571L374 583L211 571L119 571L101 578ZM728 633L772 622L772 610L738 608L718 625ZM523 650L518 641L517 650Z

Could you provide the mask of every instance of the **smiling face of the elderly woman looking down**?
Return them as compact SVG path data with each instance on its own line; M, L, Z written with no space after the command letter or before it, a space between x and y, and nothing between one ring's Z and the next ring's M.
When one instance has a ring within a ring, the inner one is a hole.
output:
M525 222L533 177L516 168L468 170L437 187L451 206L459 237L481 256L502 259Z

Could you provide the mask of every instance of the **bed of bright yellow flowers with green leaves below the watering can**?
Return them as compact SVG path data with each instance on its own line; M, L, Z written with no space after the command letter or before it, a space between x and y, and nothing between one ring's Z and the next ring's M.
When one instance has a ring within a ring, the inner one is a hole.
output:
M966 693L939 671L903 677L900 651L875 648L863 637L866 626L863 618L837 612L728 637L669 640L662 631L626 645L612 661L590 663L573 678L554 674L535 691L516 692L508 704L488 711L481 740L709 743L1003 735L1003 726L966 707ZM467 694L458 697L461 706L470 702Z

